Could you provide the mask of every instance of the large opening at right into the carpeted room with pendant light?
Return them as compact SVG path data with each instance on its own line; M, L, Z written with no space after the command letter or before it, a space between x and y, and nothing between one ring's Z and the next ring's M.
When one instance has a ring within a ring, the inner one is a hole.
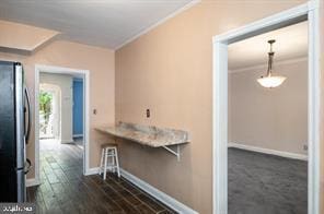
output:
M228 52L228 212L305 214L308 22L233 43Z

